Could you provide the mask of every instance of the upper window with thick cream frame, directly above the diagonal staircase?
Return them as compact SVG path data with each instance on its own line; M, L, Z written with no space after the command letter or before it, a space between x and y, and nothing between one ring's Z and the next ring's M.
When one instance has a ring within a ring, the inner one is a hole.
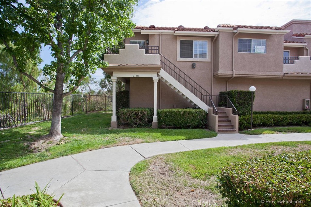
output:
M208 51L210 38L177 38L177 60L179 61L210 61Z

